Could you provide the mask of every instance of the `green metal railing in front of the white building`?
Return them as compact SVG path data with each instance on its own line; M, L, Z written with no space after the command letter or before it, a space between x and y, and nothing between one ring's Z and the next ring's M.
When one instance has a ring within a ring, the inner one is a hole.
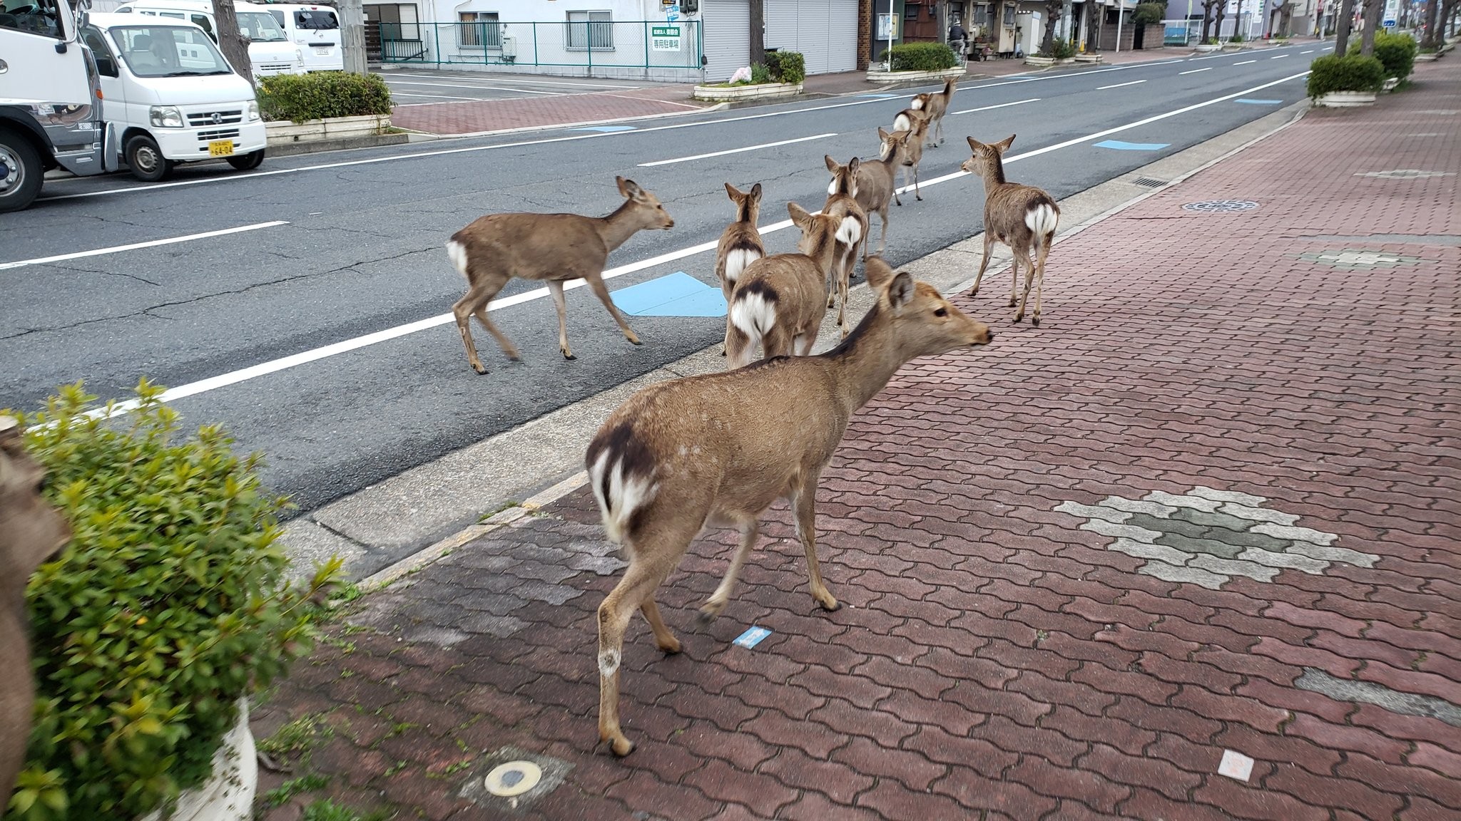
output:
M428 66L700 69L700 22L581 19L375 23L380 60Z

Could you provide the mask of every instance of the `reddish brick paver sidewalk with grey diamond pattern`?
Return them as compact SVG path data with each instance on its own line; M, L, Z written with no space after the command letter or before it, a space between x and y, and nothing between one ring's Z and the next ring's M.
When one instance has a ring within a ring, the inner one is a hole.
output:
M999 340L906 368L824 478L850 606L777 508L697 633L732 539L697 542L685 652L625 644L628 758L586 489L358 602L257 732L314 717L295 776L432 820L1461 818L1458 111L1429 64L1069 238L1039 329L960 297ZM511 757L551 786L516 809Z

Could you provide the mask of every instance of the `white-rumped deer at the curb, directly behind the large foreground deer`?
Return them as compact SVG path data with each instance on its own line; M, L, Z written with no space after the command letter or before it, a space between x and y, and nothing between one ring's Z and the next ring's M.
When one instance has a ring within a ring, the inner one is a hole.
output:
M755 346L763 358L805 356L812 352L821 320L827 316L823 285L837 259L837 231L843 216L806 213L796 203L786 203L792 222L802 229L795 254L776 254L752 261L726 311L726 355L730 368L751 362Z

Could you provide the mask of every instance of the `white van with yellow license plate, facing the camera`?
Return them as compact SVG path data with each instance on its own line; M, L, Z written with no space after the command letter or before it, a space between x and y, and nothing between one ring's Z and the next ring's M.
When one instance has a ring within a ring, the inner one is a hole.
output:
M164 180L178 162L264 161L254 86L228 66L197 25L143 15L89 15L82 39L101 75L108 150L131 174Z

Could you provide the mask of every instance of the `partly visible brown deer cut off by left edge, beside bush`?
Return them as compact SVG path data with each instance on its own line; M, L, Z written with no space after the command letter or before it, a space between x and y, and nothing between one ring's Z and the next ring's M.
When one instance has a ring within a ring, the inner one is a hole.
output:
M72 538L70 526L41 497L44 476L20 447L20 424L0 416L0 805L9 803L25 763L35 713L25 584Z

